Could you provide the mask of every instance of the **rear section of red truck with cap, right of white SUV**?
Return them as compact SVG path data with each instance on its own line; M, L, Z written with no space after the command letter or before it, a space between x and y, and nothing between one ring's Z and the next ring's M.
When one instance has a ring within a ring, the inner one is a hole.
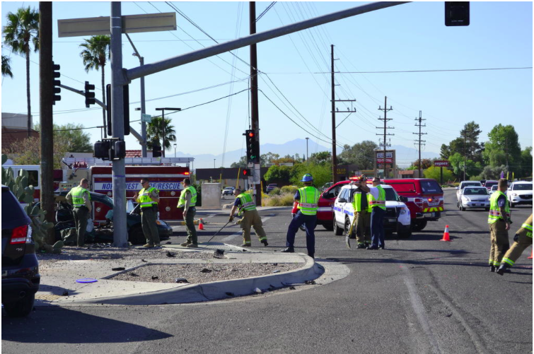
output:
M443 189L436 179L383 179L382 182L389 184L397 194L404 197L403 201L412 217L412 230L421 231L428 221L437 221L445 215Z

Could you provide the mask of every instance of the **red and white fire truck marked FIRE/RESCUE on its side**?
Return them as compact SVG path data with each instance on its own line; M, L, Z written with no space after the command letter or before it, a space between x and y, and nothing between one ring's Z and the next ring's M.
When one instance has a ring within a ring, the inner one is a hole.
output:
M159 219L164 221L183 220L182 211L176 208L183 188L183 180L190 177L190 163L194 158L125 158L126 199L133 200L134 194L142 189L140 180L149 179L151 187L159 190ZM66 182L61 190L76 187L82 178L89 181L89 189L113 197L112 162L99 158L64 158ZM178 164L185 166L178 166ZM74 168L76 166L77 168ZM108 206L96 203L94 221L105 221Z

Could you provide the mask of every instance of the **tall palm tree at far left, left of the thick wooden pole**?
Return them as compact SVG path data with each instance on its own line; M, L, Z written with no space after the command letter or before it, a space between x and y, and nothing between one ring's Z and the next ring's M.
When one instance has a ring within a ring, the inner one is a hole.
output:
M30 138L31 112L30 103L30 42L33 50L39 50L39 13L35 9L19 8L16 13L7 14L7 25L2 28L4 42L15 53L26 58L26 98L28 98L28 138ZM4 58L2 58L4 68ZM4 71L2 70L2 73Z

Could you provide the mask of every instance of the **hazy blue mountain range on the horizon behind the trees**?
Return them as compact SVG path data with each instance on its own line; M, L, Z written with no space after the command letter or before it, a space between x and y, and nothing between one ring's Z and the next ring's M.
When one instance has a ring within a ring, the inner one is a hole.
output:
M388 150L395 150L397 155L397 165L399 167L410 167L411 163L419 158L419 152L416 148L407 148L402 145L393 145L388 148ZM313 153L320 153L321 151L332 151L332 147L322 146L311 139L308 140L308 153L309 155ZM294 139L283 144L272 144L266 143L260 145L260 153L277 153L280 157L286 155L294 156L298 154L300 158L306 155L306 139ZM340 153L340 149L337 149L337 153ZM173 156L170 151L166 152L168 157ZM245 149L227 151L224 154L224 165L223 167L230 167L232 163L236 163L240 160L241 156L245 155ZM214 168L221 167L223 163L223 154L213 155L213 154L199 154L191 155L189 153L177 152L177 157L180 158L195 158L194 167L195 168ZM422 151L421 158L439 158L439 153L434 153L431 151ZM215 160L215 161L214 161Z

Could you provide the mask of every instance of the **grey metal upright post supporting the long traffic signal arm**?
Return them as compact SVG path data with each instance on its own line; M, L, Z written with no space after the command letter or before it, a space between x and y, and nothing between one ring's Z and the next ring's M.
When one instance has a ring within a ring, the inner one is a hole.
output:
M111 102L113 138L124 140L124 105L122 104L122 18L120 1L111 3ZM113 243L115 247L127 247L126 228L126 168L124 159L113 160Z

